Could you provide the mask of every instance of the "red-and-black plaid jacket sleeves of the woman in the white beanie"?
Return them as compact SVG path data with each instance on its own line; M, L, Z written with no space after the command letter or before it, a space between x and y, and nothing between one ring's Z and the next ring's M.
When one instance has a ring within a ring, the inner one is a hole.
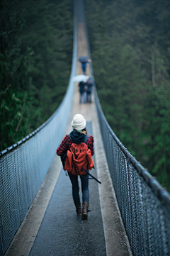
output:
M62 155L62 153L66 150L69 150L72 145L72 141L69 138L69 135L65 135L62 143L57 148L57 155ZM89 135L89 139L86 142L87 147L91 150L91 155L94 155L94 137Z

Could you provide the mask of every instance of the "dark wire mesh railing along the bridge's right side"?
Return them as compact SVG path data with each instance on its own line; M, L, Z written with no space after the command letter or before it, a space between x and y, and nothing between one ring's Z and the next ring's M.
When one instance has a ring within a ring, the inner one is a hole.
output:
M113 133L96 89L95 99L108 167L132 254L170 255L170 195Z

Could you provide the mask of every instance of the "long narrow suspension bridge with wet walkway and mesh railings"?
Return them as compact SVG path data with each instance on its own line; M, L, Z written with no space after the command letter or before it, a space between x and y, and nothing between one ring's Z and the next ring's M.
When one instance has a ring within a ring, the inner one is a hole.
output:
M170 255L170 195L137 162L108 125L94 85L79 104L79 56L91 58L84 3L74 1L74 46L67 93L33 133L0 153L0 255ZM93 77L92 64L86 73ZM94 136L89 218L77 216L69 177L55 154L84 115Z

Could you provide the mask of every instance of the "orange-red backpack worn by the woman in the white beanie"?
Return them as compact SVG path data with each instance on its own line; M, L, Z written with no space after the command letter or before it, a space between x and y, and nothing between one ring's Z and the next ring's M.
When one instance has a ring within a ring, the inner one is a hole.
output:
M94 161L91 156L91 150L88 149L85 143L72 143L70 151L67 150L64 169L74 175L84 175L86 172L81 169L82 167L87 172L89 169L94 168Z

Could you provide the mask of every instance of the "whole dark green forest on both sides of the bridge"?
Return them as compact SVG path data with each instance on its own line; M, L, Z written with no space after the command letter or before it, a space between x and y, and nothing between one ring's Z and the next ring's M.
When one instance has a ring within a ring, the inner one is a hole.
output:
M170 2L84 0L98 97L114 133L170 191ZM0 2L0 150L57 109L72 65L73 1Z

